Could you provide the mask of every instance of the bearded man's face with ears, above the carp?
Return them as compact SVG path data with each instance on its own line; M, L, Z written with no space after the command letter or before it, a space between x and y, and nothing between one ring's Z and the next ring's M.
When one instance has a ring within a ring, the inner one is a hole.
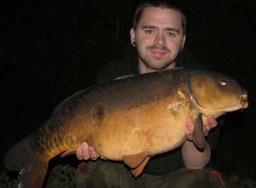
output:
M173 64L185 42L181 14L173 9L145 8L136 31L132 28L130 34L131 42L136 43L139 63L155 70Z

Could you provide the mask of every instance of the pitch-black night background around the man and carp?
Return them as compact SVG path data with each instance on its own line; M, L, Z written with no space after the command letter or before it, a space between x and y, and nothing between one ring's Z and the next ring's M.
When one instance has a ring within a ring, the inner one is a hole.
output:
M209 69L233 76L249 107L228 113L214 165L256 180L256 3L180 1L186 47ZM122 57L138 1L1 1L1 143L4 153L47 120L55 106L91 86L99 68Z

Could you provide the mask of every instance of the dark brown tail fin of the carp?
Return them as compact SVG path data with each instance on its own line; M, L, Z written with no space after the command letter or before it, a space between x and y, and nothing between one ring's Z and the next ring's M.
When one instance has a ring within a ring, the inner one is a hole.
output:
M44 182L48 168L48 162L40 159L34 154L30 146L32 135L10 148L4 163L8 170L19 172L18 187L40 188Z

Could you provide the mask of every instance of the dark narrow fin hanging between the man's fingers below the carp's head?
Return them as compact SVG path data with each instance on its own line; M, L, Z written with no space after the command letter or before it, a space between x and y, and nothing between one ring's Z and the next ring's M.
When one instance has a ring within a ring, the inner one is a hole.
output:
M196 120L193 122L195 124L194 130L193 130L193 142L198 148L204 149L205 140L204 140L202 114L198 114Z

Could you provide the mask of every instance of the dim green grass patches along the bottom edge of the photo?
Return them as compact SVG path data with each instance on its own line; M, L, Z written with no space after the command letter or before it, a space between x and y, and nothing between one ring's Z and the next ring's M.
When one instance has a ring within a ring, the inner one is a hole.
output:
M60 164L54 166L46 178L45 188L74 188L74 176L77 174L77 168L69 164ZM225 175L230 188L256 188L256 181L251 179L242 179L239 175ZM4 171L0 175L0 188L16 188L17 180Z

